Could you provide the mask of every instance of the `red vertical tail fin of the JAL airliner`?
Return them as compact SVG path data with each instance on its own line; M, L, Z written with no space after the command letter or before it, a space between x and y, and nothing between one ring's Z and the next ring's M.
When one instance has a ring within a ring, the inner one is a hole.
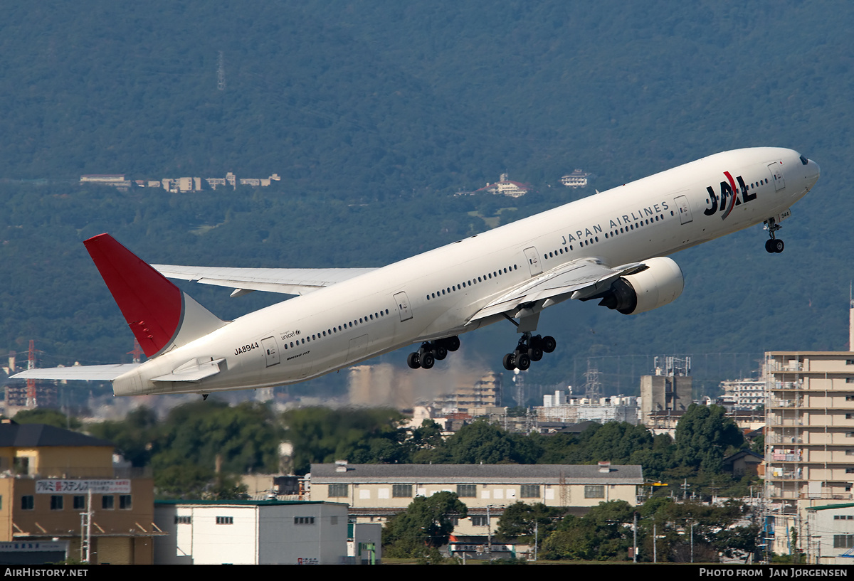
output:
M225 325L111 235L92 236L84 244L146 356Z

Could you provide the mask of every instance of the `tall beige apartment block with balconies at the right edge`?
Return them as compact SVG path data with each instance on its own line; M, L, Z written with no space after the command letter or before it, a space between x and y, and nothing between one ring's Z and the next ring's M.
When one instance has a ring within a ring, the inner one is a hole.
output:
M854 498L854 352L769 352L765 376L772 550L809 551L806 511Z

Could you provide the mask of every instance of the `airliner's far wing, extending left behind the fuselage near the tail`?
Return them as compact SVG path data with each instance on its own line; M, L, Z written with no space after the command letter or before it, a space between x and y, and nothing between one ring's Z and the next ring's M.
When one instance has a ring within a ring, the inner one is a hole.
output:
M217 266L178 266L152 264L161 275L184 281L231 287L231 296L254 290L269 293L307 294L336 282L363 275L372 268L226 268Z

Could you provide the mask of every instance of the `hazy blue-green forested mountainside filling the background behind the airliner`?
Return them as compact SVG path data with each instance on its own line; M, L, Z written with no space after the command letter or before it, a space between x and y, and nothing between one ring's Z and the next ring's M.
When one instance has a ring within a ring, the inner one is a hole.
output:
M132 335L80 244L102 231L152 262L385 264L482 231L477 212L506 222L577 197L555 187L575 167L607 189L774 145L822 166L785 253L765 253L756 227L677 254L686 290L658 311L560 305L541 326L559 352L528 381L577 384L585 357L606 357L605 385L629 392L648 360L611 356L692 353L707 387L766 350L844 349L852 24L854 8L821 2L12 0L0 337L19 352L37 340L44 364L127 357ZM74 183L226 171L283 179L193 195ZM501 171L536 193L453 197ZM223 317L280 298L190 292ZM514 335L465 336L456 357L500 368Z

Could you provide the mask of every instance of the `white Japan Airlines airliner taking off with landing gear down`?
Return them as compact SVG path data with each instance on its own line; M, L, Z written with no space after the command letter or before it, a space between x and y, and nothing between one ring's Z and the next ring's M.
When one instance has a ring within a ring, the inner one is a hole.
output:
M819 173L791 149L727 151L377 269L149 265L97 235L86 249L149 359L13 377L207 397L304 381L409 345L418 348L408 365L430 369L460 334L494 322L520 337L505 369L528 369L555 349L535 334L547 307L596 299L631 315L667 305L684 283L668 255L754 224L766 224L765 249L780 253L780 223ZM167 277L300 296L228 322Z

